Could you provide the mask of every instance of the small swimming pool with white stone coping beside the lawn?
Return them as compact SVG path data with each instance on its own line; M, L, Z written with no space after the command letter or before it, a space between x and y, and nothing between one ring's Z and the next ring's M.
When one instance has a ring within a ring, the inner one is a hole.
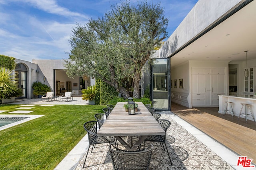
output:
M0 131L44 115L0 115Z

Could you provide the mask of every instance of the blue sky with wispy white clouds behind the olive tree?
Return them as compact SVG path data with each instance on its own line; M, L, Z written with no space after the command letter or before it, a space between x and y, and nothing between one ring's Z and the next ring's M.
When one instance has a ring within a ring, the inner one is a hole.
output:
M149 0L150 1L150 0ZM168 36L198 0L154 0L169 18ZM130 0L137 2L137 0ZM120 0L0 0L0 54L25 61L68 59L76 23L104 16Z

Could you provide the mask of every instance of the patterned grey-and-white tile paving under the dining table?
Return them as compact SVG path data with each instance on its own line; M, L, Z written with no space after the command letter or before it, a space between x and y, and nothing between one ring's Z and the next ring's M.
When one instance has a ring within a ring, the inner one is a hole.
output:
M180 166L179 161L172 161L174 166L170 166L168 154L164 151L160 143L152 143L154 150L150 162L150 168L153 170L233 170L232 166L226 163L222 158L216 155L212 150L206 147L196 137L191 135L186 129L174 121L170 115L162 114L160 119L168 119L171 126L167 131L167 147L171 158L178 158L183 162ZM147 142L149 143L149 142ZM146 143L146 145L147 145ZM93 149L90 146L86 159L86 168L82 168L84 157L79 162L76 170L112 170L108 145L102 145Z

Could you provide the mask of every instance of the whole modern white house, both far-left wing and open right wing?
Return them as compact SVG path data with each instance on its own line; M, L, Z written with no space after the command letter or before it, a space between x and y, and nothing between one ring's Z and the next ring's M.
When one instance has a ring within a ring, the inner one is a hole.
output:
M158 61L151 72L143 74L142 95L151 84L154 107L162 110L170 110L171 102L187 107L216 107L218 95L253 96L255 9L255 0L198 0L156 52L154 57ZM34 97L31 89L34 81L44 82L55 95L65 90L79 94L81 88L94 84L90 78L68 78L63 62L32 60L30 63L16 59L21 64L17 68L20 77L25 78L22 72L26 72L26 82L20 82L25 89L23 98ZM249 77L244 76L247 69Z

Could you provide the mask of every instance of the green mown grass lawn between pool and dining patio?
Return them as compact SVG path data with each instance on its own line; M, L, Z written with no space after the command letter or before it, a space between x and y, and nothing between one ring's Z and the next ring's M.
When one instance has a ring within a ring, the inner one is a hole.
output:
M0 110L18 107L0 105ZM45 116L0 131L1 170L53 170L86 134L83 124L106 106L33 107L30 114Z

